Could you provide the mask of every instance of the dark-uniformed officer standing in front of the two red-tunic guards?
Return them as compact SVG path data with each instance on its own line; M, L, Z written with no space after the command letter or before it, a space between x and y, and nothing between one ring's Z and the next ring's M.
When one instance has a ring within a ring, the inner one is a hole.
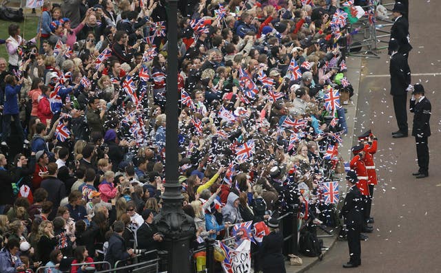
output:
M354 171L347 172L346 181L349 190L347 190L340 216L345 218L347 244L349 245L349 262L343 267L351 268L361 265L360 232L363 224L363 204L360 190L356 186L357 174Z

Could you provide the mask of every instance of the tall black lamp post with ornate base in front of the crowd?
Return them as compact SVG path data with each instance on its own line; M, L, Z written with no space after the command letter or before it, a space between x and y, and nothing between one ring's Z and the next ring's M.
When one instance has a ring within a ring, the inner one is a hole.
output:
M178 0L168 0L167 10L167 102L165 115L165 191L163 207L154 218L164 235L162 247L168 251L168 272L190 272L189 242L196 232L194 219L182 210L181 184L178 183Z

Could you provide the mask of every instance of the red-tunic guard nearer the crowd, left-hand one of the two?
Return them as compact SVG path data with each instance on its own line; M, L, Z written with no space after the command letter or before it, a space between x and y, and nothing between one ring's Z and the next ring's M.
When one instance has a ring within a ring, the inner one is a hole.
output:
M357 188L360 190L363 199L363 228L362 232L372 232L373 228L367 226L366 209L367 209L367 199L369 199L369 186L367 185L367 170L364 161L365 151L363 149L365 145L358 144L353 146L351 151L355 155L350 163L351 170L355 171L357 174L358 182L356 184Z

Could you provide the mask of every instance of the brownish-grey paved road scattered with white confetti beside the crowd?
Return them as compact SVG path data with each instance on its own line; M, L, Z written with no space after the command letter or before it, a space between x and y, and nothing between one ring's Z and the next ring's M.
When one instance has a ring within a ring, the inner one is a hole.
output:
M437 2L409 3L413 45L409 65L412 74L418 74L412 76L412 82L422 83L432 102L429 177L414 179L411 175L418 170L414 138L391 138L391 132L398 128L389 77L384 76L389 74L386 52L380 59L362 61L356 133L371 128L379 138L375 159L380 185L374 192L376 230L369 241L362 242L362 266L347 271L441 272L441 5ZM409 128L411 120L409 113ZM308 272L342 272L342 263L348 260L347 242L338 241Z

